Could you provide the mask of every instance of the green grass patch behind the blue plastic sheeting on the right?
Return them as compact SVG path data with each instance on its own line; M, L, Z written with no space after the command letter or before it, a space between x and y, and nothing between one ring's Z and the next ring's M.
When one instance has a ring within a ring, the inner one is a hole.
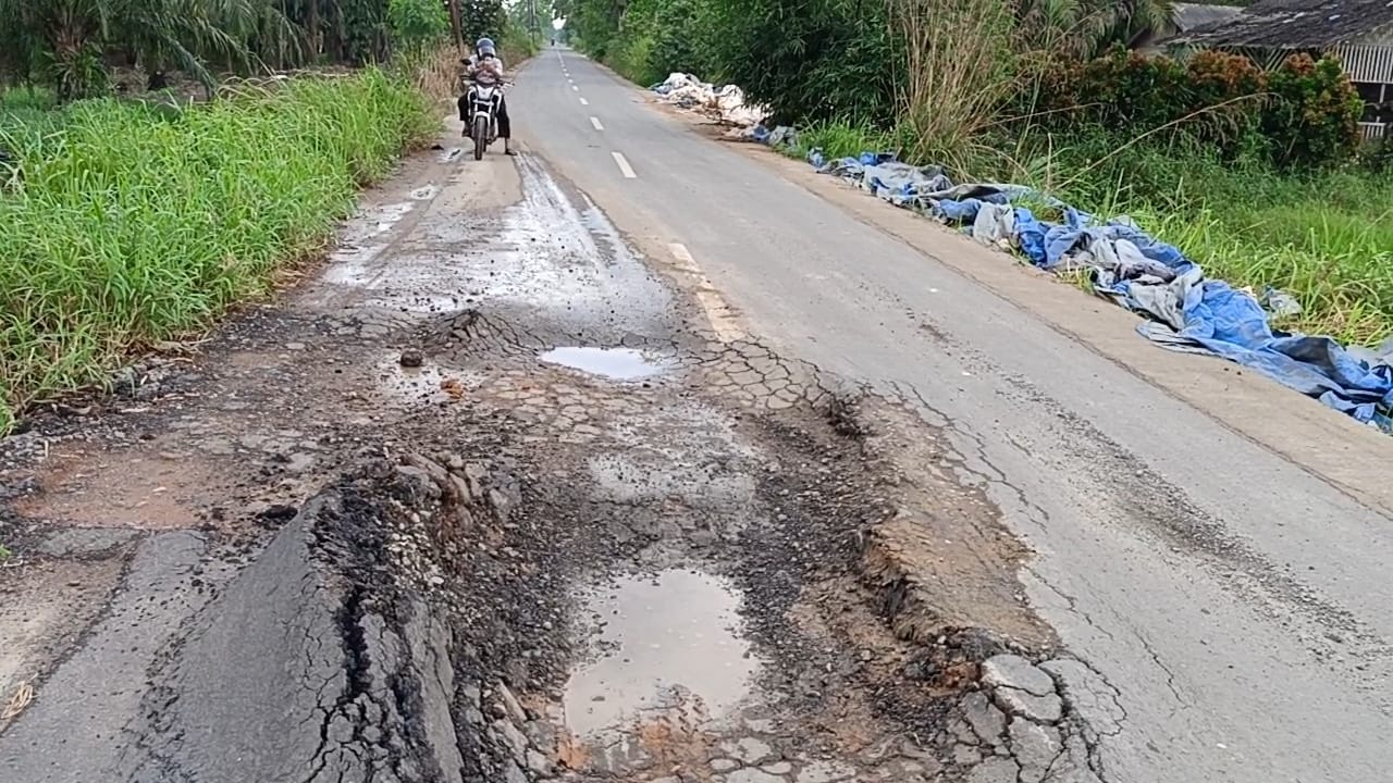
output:
M1127 213L1201 263L1302 312L1279 326L1371 344L1393 334L1393 181L1361 169L1290 173L1185 142L1126 146L1102 130L1034 138L1017 181L1099 215Z

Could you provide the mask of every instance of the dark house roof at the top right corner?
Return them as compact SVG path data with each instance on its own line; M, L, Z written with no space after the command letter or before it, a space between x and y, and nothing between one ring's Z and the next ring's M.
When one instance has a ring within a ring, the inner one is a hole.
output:
M1393 0L1258 0L1176 43L1301 49L1350 43L1393 28Z

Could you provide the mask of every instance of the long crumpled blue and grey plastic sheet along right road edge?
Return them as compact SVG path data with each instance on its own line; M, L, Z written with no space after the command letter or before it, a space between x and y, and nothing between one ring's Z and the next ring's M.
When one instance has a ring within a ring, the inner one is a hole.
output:
M1393 429L1393 339L1378 348L1346 348L1330 337L1275 330L1273 316L1300 312L1290 294L1269 288L1255 297L1209 280L1178 248L1130 219L1102 220L1024 185L953 184L935 166L908 166L890 153L827 160L815 149L808 162L1041 269L1087 273L1100 297L1145 316L1137 332L1165 348L1226 358L1361 422ZM1057 220L1041 219L1022 201L1056 212Z

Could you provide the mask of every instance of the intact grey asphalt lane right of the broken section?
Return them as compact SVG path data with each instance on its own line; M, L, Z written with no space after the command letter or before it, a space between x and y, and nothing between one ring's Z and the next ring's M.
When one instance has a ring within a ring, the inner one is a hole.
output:
M709 280L717 333L755 332L951 431L963 479L1038 553L1029 600L1123 694L1095 724L1110 780L1387 779L1393 528L1376 474L1355 486L1385 443L1165 354L1006 256L871 226L839 203L869 196L812 192L574 52L543 52L508 100L531 152L655 262ZM1000 277L1010 295L960 272L976 262L1018 276ZM1099 323L1114 332L1074 336ZM1314 431L1337 440L1297 436Z

